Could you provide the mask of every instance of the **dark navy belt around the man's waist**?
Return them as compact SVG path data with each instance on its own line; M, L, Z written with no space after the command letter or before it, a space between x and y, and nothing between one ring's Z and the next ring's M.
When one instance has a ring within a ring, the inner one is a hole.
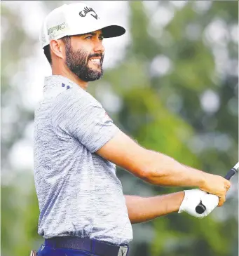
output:
M127 256L128 245L114 245L91 238L79 238L77 236L59 236L45 239L45 245L53 248L68 248L85 250L99 256Z

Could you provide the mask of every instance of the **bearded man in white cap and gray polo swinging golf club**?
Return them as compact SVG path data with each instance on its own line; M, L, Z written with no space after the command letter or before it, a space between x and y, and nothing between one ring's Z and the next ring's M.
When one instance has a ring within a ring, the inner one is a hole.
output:
M177 211L205 217L225 201L230 182L140 147L86 92L89 81L102 78L103 38L124 33L82 3L56 8L43 22L52 76L35 112L34 177L45 238L38 255L128 255L132 223ZM116 165L151 184L198 189L124 196ZM202 215L195 210L200 201Z

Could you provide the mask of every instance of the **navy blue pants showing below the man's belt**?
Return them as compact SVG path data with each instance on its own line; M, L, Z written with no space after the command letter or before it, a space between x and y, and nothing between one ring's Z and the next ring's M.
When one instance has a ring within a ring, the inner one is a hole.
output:
M46 245L41 245L37 251L37 256L97 256L92 255L90 252L83 250L73 250L73 249L60 249L53 248Z

